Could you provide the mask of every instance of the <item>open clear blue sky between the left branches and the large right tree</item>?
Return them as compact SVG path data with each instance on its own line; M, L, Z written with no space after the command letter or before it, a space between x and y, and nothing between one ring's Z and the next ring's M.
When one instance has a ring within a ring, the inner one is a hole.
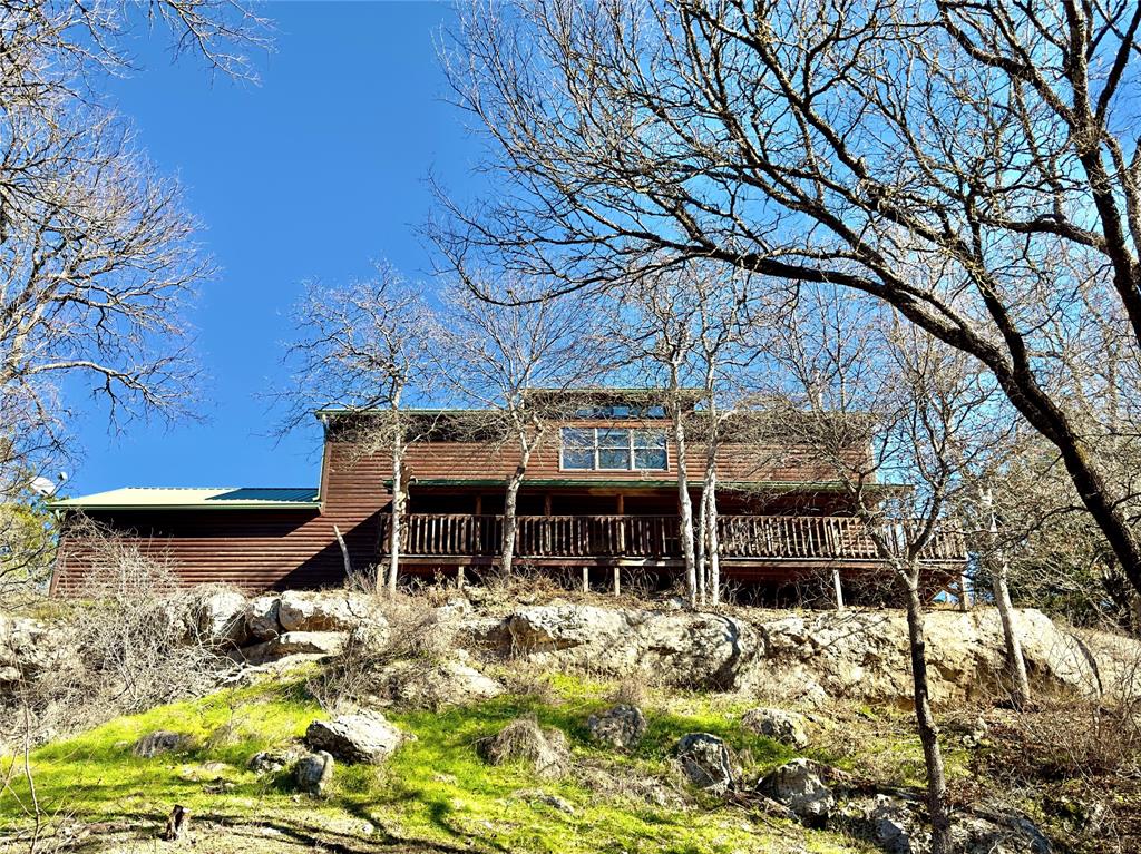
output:
M275 51L257 58L260 86L213 80L171 63L162 39L135 47L141 71L111 95L156 166L186 187L201 239L220 267L192 320L209 379L208 421L168 429L79 422L72 495L119 486L316 485L314 425L275 445L259 397L282 381L282 342L302 282L367 276L387 258L427 277L416 228L432 172L462 192L479 155L464 116L445 101L434 38L443 3L277 2Z

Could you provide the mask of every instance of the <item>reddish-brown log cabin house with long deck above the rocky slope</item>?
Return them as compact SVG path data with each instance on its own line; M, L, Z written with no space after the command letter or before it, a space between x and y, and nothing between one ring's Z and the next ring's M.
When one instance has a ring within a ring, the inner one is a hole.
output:
M683 561L678 453L665 408L645 391L581 390L559 399L519 491L517 566L607 586L640 572L667 586ZM471 579L495 567L518 450L496 439L486 415L403 413L410 445L402 575ZM375 567L387 556L391 456L362 439L367 414L317 417L324 452L316 488L123 488L56 501L62 536L52 588L75 589L90 570L90 551L72 534L80 515L141 544L187 584L308 588L342 584L347 564ZM687 454L695 507L705 452L696 439ZM746 418L717 448L715 470L727 583L784 585L823 571L839 591L841 579L882 570L842 485L806 448L752 430ZM939 578L957 578L962 537L940 536L925 559Z

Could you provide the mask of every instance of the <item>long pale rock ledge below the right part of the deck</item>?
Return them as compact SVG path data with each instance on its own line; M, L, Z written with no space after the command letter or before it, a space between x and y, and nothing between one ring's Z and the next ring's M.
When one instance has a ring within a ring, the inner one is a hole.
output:
M1017 625L1037 690L1112 694L1141 643L1066 631L1041 611ZM985 699L1001 685L998 615L934 611L926 618L932 700ZM758 611L726 617L685 611L549 604L493 621L469 618L458 637L551 667L667 685L737 690L814 707L828 697L907 703L912 696L907 621L899 611Z

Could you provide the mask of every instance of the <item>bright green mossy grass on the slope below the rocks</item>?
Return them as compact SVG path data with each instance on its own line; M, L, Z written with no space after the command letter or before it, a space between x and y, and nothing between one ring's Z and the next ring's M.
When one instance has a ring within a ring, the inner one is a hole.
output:
M293 791L285 775L267 780L246 770L256 753L289 743L323 715L301 680L163 706L47 745L31 757L37 795L49 814L99 823L136 839L153 838L171 806L183 804L199 827L211 827L211 849L219 852L321 845L354 852L567 854L869 851L863 843L804 830L742 806L661 807L589 789L574 774L551 782L537 780L521 765L485 764L477 742L521 715L563 730L580 764L606 767L618 779L666 776L674 742L691 731L725 738L748 775L793 756L788 748L743 731L736 714L699 694L679 699L677 708L650 698L644 742L630 755L616 754L592 746L585 730L586 717L608 705L614 685L566 676L553 677L551 684L552 694L545 698L504 696L438 714L393 711L389 718L414 733L415 741L381 767L338 766L323 798ZM160 729L184 733L191 743L180 754L135 757L131 745ZM528 790L557 795L574 812L560 812ZM27 797L26 782L21 781L0 794L0 837L26 827L18 799ZM95 848L107 844L96 839ZM262 844L268 847L259 848Z

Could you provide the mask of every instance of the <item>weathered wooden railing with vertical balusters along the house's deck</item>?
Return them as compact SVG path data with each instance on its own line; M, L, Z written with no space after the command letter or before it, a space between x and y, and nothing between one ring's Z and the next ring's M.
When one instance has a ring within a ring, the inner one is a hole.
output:
M386 520L387 523L387 520ZM885 529L888 536L899 536ZM721 555L754 560L875 561L867 527L851 517L722 515L718 519ZM404 518L402 551L410 556L493 558L503 539L503 517L467 513L411 513ZM519 558L681 556L675 515L523 515L517 518ZM965 556L963 537L940 532L923 560Z

